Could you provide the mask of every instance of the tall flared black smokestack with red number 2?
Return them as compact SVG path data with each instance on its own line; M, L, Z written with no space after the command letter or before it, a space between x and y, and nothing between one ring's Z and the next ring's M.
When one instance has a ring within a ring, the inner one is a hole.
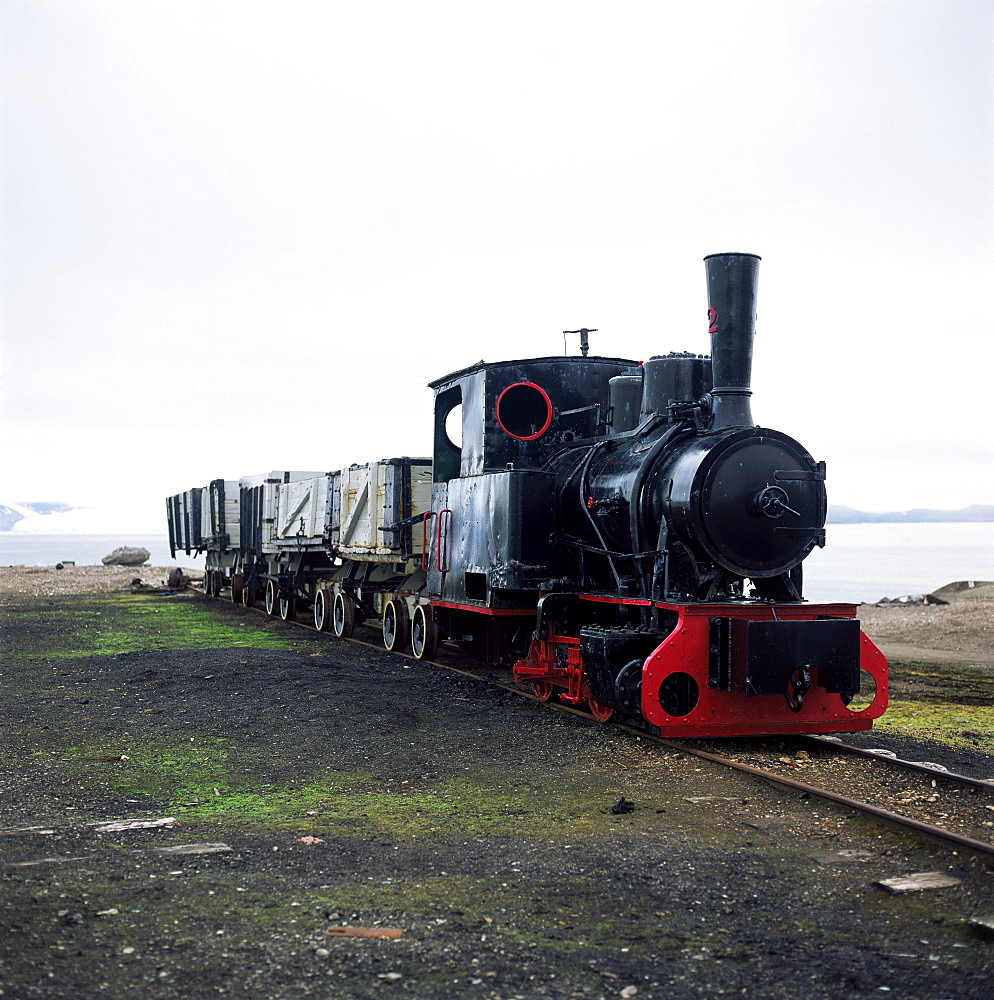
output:
M752 253L715 253L704 258L714 375L711 430L753 425L749 397L759 261Z

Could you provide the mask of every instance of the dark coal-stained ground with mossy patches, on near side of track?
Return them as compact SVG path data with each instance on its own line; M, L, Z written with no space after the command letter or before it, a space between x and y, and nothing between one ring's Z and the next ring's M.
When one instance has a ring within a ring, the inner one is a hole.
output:
M990 995L968 859L224 603L2 610L5 996Z

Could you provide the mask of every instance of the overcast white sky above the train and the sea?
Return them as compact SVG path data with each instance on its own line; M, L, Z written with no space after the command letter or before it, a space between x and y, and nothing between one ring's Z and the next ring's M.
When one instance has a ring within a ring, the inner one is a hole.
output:
M994 502L989 0L0 0L0 44L0 503L427 454L481 358L707 351L728 250L833 502Z

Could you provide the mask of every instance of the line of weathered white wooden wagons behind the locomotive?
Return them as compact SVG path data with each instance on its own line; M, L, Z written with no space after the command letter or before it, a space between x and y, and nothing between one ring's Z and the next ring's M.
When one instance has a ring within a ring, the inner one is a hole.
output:
M310 607L319 631L382 622L383 645L431 659L439 632L426 592L430 458L333 472L215 479L166 501L169 547L206 554L204 591L284 621Z

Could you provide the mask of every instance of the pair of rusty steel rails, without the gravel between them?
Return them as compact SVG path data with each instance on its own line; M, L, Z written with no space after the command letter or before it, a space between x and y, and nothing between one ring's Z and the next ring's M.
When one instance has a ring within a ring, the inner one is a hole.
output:
M189 588L196 594L202 594L203 596L208 596L204 591L199 591L194 588ZM212 598L212 600L221 600L221 598ZM225 603L231 604L234 607L244 608L244 605L235 604L234 601L227 601ZM306 629L309 632L315 632L318 635L322 633L318 632L316 628L312 625L307 625L304 622L299 622L296 619L291 619L285 621L278 615L268 615L264 608L245 608L245 610L256 611L259 614L265 614L267 618L275 618L276 621L280 621L285 625L296 625L299 628ZM344 636L331 636L328 638L342 639ZM352 636L347 638L348 642L355 643L359 646L365 646L369 649L379 650L381 653L389 653L389 650L383 648L382 644L376 644L372 642L366 642L363 639L356 639ZM405 659L417 660L417 657L410 653L395 653L393 655L402 656ZM542 701L541 698L536 697L529 691L523 691L519 687L515 687L511 684L505 684L502 681L495 680L492 677L485 677L481 674L474 673L471 670L462 670L459 667L451 666L447 663L440 663L437 660L418 660L420 663L430 663L432 666L441 667L443 670L448 670L450 673L461 674L464 677L470 677L473 680L480 681L482 684L486 684L489 687L501 688L504 691L508 691L511 694L517 695L518 697L525 698L528 701L536 702L545 708L550 708L553 711L565 712L569 715L576 715L580 718L592 720L592 716L589 712L584 712L578 708L574 708L571 705L564 705L561 702L552 701ZM603 724L603 723L602 723ZM964 837L961 834L954 833L951 830L944 830L942 827L932 826L929 823L922 823L920 820L912 819L910 816L902 816L900 813L891 812L888 809L881 809L879 806L871 805L869 802L860 802L858 799L850 799L845 795L839 795L837 792L831 792L826 788L818 788L814 785L808 785L801 781L795 781L793 778L786 778L779 774L774 774L770 771L764 771L762 768L753 767L750 764L743 764L740 761L731 760L728 757L722 757L719 754L709 753L706 750L697 750L693 747L688 747L684 743L678 740L669 739L665 736L657 736L655 733L648 732L638 726L633 726L626 722L610 722L610 725L623 732L631 733L634 736L640 736L643 739L647 739L659 746L669 747L672 750L677 750L680 753L688 754L692 757L699 757L702 760L708 760L715 764L721 764L723 767L731 768L732 770L739 771L743 774L748 774L751 777L758 778L760 781L764 781L769 785L773 785L778 788L788 789L793 792L800 792L803 795L807 795L811 798L820 799L823 802L830 802L833 805L841 806L844 809L849 809L852 812L860 813L865 816L869 816L880 823L884 823L887 826L893 827L897 830L901 830L905 833L917 834L926 840L930 840L934 843L940 844L943 847L952 848L956 851L962 851L967 854L973 854L974 856L980 858L986 864L994 865L994 844L985 843L982 840L974 840L971 837ZM872 757L878 762L883 762L887 764L897 764L898 766L907 766L913 770L921 770L929 774L931 777L945 777L953 781L963 781L966 784L977 784L986 791L991 790L991 785L988 782L978 781L976 778L968 778L965 775L952 774L948 771L937 771L934 768L922 767L915 764L912 761L901 761L899 758L895 757L885 757L880 754L873 754L869 751L859 751L859 748L847 747L846 744L837 744L828 740L821 741L826 746L830 746L836 749L840 746L846 747L847 750L856 750L860 753L865 753L866 756ZM843 751L845 752L845 751Z

